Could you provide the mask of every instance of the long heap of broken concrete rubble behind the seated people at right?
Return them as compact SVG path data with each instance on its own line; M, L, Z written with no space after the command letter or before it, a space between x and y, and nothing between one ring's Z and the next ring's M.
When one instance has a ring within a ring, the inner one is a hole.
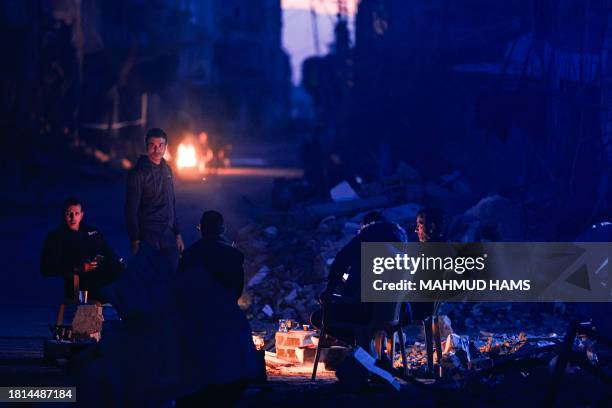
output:
M279 319L309 323L310 314L319 308L317 299L334 257L355 236L368 211L381 210L387 219L411 233L419 209L434 206L447 216L450 241L524 238L523 213L518 207L499 195L479 200L459 172L436 182L423 181L416 170L403 164L390 178L355 189L351 186L344 182L327 202L296 205L238 232L236 245L246 259L245 290L239 303L253 330L268 332L266 340L271 339ZM513 308L511 304L453 305L442 313L470 335L516 327L533 332L533 322L540 324L541 319L534 319L531 312ZM558 319L551 320L545 326L562 332L557 323Z

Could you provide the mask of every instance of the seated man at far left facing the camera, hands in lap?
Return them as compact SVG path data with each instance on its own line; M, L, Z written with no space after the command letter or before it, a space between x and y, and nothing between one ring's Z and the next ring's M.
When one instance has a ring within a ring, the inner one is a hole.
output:
M47 235L40 257L44 276L64 278L64 299L70 303L78 300L74 275L79 277L79 290L88 291L90 300L103 301L99 289L117 279L123 270L121 260L100 231L81 222L84 214L80 200L67 199L61 225Z

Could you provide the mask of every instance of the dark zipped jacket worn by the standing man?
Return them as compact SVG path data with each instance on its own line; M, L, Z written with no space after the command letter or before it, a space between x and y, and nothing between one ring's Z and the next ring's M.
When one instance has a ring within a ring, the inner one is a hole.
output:
M141 240L145 231L165 228L179 234L175 202L170 166L164 159L156 165L147 156L141 156L128 174L125 197L125 222L130 241Z

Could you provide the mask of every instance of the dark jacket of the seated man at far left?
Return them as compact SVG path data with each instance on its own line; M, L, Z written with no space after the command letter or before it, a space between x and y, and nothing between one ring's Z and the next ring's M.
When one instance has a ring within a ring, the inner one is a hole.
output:
M93 261L98 255L104 258L98 263L96 273L79 270L84 263ZM78 231L73 231L65 225L51 231L45 239L40 257L40 271L44 276L64 278L66 300L74 299L77 295L74 293L75 274L80 276L80 289L90 290L93 288L88 286L94 284L90 277L105 274L111 278L121 269L121 261L100 231L83 224Z

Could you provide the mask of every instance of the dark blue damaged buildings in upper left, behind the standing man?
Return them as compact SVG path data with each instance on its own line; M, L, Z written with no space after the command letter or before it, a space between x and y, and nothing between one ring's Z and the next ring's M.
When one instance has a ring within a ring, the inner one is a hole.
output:
M73 143L103 158L134 154L143 129L161 123L171 135L207 132L219 144L278 134L290 91L280 2L150 6L3 2L2 49L11 57L3 62L2 115L23 135L15 151Z

